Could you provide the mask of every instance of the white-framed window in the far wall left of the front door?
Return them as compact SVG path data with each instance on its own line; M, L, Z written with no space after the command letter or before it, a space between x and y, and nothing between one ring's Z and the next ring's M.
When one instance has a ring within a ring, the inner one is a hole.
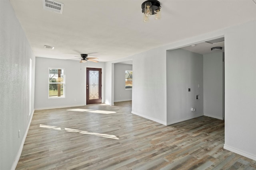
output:
M63 68L49 68L48 98L65 97L65 78Z

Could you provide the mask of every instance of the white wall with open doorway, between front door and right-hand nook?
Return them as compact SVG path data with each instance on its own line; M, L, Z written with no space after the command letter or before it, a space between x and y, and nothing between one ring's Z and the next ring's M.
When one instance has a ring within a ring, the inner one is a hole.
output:
M106 101L114 104L114 63L128 60L133 63L132 113L166 125L166 51L161 48L106 62L106 86L111 86Z

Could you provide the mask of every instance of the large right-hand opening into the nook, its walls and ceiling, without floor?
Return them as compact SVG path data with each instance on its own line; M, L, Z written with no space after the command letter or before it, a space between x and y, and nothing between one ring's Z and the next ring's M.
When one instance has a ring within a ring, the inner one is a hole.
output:
M168 125L202 115L224 120L224 37L168 50L166 64Z

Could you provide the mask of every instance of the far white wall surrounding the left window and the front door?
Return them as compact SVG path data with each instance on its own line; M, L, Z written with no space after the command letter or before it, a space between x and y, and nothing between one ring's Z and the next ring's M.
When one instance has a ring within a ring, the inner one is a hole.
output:
M79 61L36 57L35 109L84 106L86 104L85 68L102 68L102 102L104 102L104 63L82 63ZM64 68L65 98L48 99L48 69Z

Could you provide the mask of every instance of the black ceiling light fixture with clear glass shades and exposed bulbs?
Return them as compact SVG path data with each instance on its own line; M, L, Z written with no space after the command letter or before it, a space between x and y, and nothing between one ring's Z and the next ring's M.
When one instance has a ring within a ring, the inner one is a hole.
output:
M149 17L155 15L155 20L160 20L160 2L158 0L147 0L141 4L142 13L144 13L143 21L148 22Z

